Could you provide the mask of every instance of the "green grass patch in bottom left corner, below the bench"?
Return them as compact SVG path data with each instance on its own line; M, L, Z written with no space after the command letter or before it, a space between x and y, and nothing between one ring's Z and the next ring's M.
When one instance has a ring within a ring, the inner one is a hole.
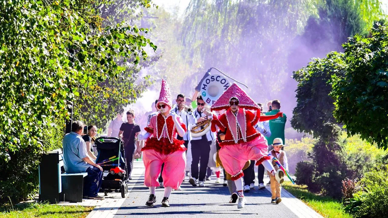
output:
M1 211L1 218L85 218L93 207L59 206L55 204L26 204L24 207Z

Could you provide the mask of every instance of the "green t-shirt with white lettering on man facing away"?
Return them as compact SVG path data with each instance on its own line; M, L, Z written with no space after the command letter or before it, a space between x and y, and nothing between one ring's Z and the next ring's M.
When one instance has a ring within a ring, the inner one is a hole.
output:
M279 112L279 110L272 110L270 112L266 112L265 115L275 115ZM275 138L281 138L283 140L283 144L286 144L284 140L284 126L286 126L287 116L283 114L283 117L278 117L276 119L269 120L269 129L271 130L271 136L265 137L267 138L268 145L271 145L274 142Z

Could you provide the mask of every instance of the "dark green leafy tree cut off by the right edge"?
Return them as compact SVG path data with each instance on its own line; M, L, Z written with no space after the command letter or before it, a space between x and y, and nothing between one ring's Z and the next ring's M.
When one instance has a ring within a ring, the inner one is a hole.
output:
M356 35L344 45L348 69L333 78L334 116L348 135L388 147L388 40L386 26L373 28L370 38Z

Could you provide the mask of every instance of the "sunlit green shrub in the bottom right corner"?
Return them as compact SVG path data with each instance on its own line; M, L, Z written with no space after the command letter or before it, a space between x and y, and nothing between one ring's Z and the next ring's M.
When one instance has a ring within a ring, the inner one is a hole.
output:
M346 211L355 217L388 217L388 165L378 164L365 173L357 185L360 190L346 202Z

